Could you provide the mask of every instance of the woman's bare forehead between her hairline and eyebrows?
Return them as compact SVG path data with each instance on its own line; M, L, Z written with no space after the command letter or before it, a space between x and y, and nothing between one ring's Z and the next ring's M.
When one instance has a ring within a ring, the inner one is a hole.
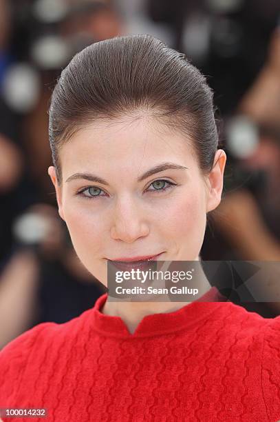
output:
M194 160L191 139L149 116L98 120L85 125L60 152L64 177L69 172L107 168L142 168L155 160Z

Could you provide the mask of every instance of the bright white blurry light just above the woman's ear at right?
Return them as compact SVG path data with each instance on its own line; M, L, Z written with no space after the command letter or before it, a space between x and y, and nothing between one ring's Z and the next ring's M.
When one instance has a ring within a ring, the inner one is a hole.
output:
M250 156L259 143L257 126L245 116L237 116L226 126L227 148L237 158Z

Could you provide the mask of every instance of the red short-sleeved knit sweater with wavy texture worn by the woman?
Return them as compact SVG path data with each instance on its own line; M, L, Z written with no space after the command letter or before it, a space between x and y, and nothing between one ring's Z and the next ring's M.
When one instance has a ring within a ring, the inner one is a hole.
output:
M280 316L202 301L216 297L144 316L133 334L100 312L107 294L36 325L0 352L0 408L48 416L3 421L279 421Z

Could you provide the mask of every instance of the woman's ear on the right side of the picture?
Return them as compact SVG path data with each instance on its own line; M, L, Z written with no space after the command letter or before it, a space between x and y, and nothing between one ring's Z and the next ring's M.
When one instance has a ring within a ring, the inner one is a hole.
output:
M224 152L224 150L217 150L213 169L207 175L208 190L206 192L206 212L215 210L221 202L225 166L226 152Z

